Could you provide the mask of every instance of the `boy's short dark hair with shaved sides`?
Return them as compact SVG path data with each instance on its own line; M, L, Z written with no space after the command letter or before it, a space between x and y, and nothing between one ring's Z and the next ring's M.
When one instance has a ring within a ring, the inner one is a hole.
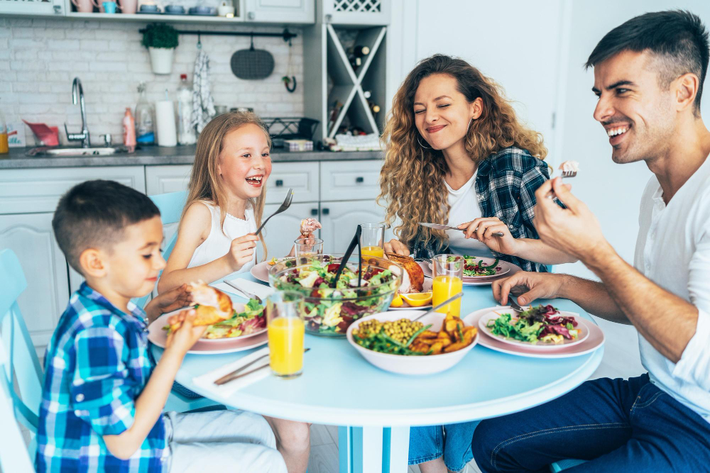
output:
M79 257L84 250L117 243L126 226L154 216L160 211L146 194L97 179L77 184L62 196L52 228L70 266L82 273Z

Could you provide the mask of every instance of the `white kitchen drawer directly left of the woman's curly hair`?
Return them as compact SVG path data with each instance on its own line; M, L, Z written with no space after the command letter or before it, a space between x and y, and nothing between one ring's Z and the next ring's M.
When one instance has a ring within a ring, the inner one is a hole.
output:
M322 201L375 199L380 193L381 160L320 163Z

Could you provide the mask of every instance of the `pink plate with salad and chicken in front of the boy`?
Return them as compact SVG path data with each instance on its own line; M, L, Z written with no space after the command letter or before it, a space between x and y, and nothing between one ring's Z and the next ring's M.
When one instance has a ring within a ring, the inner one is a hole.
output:
M207 330L189 353L234 352L265 343L266 314L256 300L234 304L227 294L204 283L191 284L190 291L196 311L194 325L207 325ZM169 318L182 310L185 309L165 313L153 321L148 326L148 340L164 348L170 331L180 328L179 323L171 325Z

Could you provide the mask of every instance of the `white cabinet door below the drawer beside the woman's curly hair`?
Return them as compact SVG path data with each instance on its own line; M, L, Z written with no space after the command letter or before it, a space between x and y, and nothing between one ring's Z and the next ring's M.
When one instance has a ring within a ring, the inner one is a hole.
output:
M323 251L344 253L359 223L378 223L385 219L385 209L373 201L321 202L320 223ZM385 238L388 233L386 232Z

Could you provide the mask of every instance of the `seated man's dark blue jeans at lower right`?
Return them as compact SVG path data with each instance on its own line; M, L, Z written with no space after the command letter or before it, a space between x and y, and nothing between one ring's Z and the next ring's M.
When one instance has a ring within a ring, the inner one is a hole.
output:
M594 379L559 399L482 421L481 472L549 472L565 458L581 472L706 472L710 423L648 379Z

